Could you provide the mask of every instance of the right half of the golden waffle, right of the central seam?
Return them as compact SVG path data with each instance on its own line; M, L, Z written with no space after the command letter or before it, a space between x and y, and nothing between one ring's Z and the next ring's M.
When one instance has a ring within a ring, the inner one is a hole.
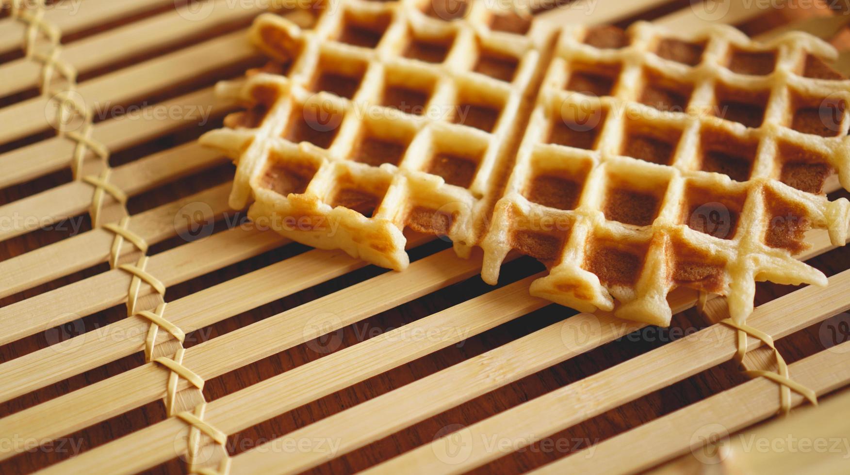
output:
M769 43L717 26L565 28L484 248L495 283L507 252L547 263L531 292L582 311L669 325L669 291L728 297L751 314L755 283L825 285L793 255L808 229L847 240L850 82L829 45Z

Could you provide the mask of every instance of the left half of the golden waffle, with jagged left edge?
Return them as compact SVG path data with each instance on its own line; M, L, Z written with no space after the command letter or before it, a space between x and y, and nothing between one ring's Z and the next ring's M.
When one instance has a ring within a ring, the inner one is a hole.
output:
M407 227L466 257L510 172L553 29L484 2L313 10L311 30L258 17L252 42L278 66L219 85L250 107L201 138L238 162L230 205L253 199L256 223L391 269L409 263Z

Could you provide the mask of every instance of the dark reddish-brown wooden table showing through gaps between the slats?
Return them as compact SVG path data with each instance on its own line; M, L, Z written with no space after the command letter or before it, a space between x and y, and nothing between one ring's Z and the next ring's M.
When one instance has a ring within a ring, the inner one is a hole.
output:
M660 10L660 13L663 13L663 11ZM658 13L655 14L657 15ZM765 25L769 25L774 21L776 20L762 19L751 21L749 25L745 25L745 30L754 33L764 29ZM211 81L214 79L211 78ZM210 124L210 126L205 127L203 130L212 126L218 126L218 123L220 123L220 120L217 123ZM112 165L116 166L117 164L146 156L152 151L162 150L194 139L203 130L198 127L177 133L172 137L156 140L151 144L136 147L128 152L116 154L112 159ZM9 148L8 146L3 146L0 147L0 151L9 150ZM189 195L205 189L211 184L223 183L232 177L232 172L233 167L230 165L217 167L194 177L180 180L178 183L169 184L160 189L147 192L144 195L134 197L128 203L130 212L135 213L143 209L149 209L153 206L174 201L180 196ZM65 171L54 173L45 178L39 178L29 184L3 189L0 190L0 203L4 204L15 201L26 195L31 195L70 180L71 173ZM830 196L830 198L835 199L837 196L847 196L847 193L841 191L836 196ZM84 232L89 229L88 218L80 217L66 220L63 223L59 223L56 228L39 230L12 240L0 242L0 260L20 255L37 247L64 239L75 233ZM184 240L174 238L153 246L149 254L161 252L180 244L184 244ZM423 257L448 246L444 241L438 240L411 252L411 257ZM201 276L184 284L169 287L167 300L172 301L195 291L201 291L201 289L208 286L223 282L224 280L233 279L253 269L259 269L270 263L291 257L299 252L304 252L305 250L307 250L307 247L297 244L283 246L280 249L267 252L259 257L235 264L229 268L220 269L212 274ZM810 263L814 267L824 271L827 275L835 274L850 268L850 250L840 248L836 251L828 252L821 257L817 257L810 261ZM507 266L510 271L502 272L502 275L509 276L512 281L519 280L541 270L541 265L530 258L519 259L519 261L507 264ZM93 269L55 280L35 289L4 298L0 300L0 306L18 302L59 286L65 286L73 281L102 272L105 269L108 269L107 265L101 264ZM385 271L375 267L367 267L326 282L325 284L298 292L291 297L282 298L273 303L263 305L245 314L240 314L219 322L216 325L212 325L212 327L195 331L187 336L184 346L188 348L209 338L234 331L241 326L249 325L252 322L280 313L288 308L296 307L301 303L309 302L317 297L337 291L345 286L382 272ZM427 297L419 298L411 303L365 319L358 324L348 326L343 331L337 332L335 337L338 336L341 340L320 339L308 342L263 359L253 365L241 368L241 370L236 370L207 381L204 387L204 394L207 401L221 398L225 394L233 393L241 388L280 374L283 371L291 370L296 366L325 356L331 349L338 351L348 345L356 344L388 329L421 319L428 314L433 314L443 308L461 303L470 297L480 295L491 289L492 287L485 285L478 277L463 281L442 291L434 292ZM761 283L758 285L757 303L768 302L775 297L793 290L794 287L791 286ZM240 298L240 296L234 295L233 298ZM509 324L501 325L491 331L486 331L479 336L467 338L467 340L450 348L445 348L422 359L417 359L410 364L402 365L380 376L372 377L365 382L355 384L353 387L348 387L343 391L333 393L313 403L304 405L297 410L292 410L270 421L263 422L258 426L232 435L228 441L229 452L231 455L234 455L251 449L253 446L262 444L271 438L292 432L297 427L303 427L313 421L350 408L355 404L360 404L367 399L387 393L423 376L428 376L435 371L455 365L464 359L471 358L477 354L501 346L504 343L513 341L519 336L527 335L546 325L551 325L574 313L569 308L553 304L533 314L515 319ZM0 348L0 361L8 361L26 353L31 353L39 348L44 348L48 346L48 341L56 342L57 338L74 336L83 331L92 331L100 326L125 317L126 309L122 304L116 308L110 308L76 322L63 325L60 328L27 337ZM785 355L785 359L791 363L824 349L825 343L823 336L826 334L825 325L830 325L830 320L820 325L813 325L813 327L805 331L800 331L780 340L778 347ZM452 426L454 424L469 425L480 421L502 410L507 410L517 404L521 404L524 401L534 399L555 388L563 387L570 382L578 381L600 370L617 365L626 359L631 359L652 348L663 346L678 337L705 326L707 326L706 320L697 314L694 309L691 309L683 314L676 315L669 329L647 327L642 331L621 338L619 341L611 342L590 353L570 359L547 370L542 370L519 382L501 387L492 393L487 393L484 396L473 399L467 404L462 404L452 410L448 410L439 416L422 421L400 433L395 433L391 437L384 438L376 444L368 445L361 450L355 450L348 455L327 462L317 467L314 472L328 474L346 473L370 467L379 461L384 461L389 457L429 442L434 438L435 434L439 433L442 435L446 430L456 428L456 426ZM30 393L0 404L0 417L8 416L11 413L39 404L45 400L53 399L61 394L69 393L77 388L101 381L143 364L144 358L142 353L139 352L95 370L89 370L63 382L45 387L35 393ZM651 393L631 404L610 410L579 426L553 434L549 438L553 439L557 444L553 444L553 442L533 444L525 450L502 457L484 467L480 467L475 472L482 474L490 472L524 472L532 467L538 467L547 461L563 457L569 454L570 451L584 448L588 443L592 444L604 440L617 433L626 431L630 427L635 427L643 422L680 409L685 405L705 399L711 394L723 391L729 387L734 387L744 382L745 379L745 376L740 374L740 370L734 362L727 362L711 368L711 370L706 370L696 376L692 376L671 387ZM0 463L0 473L31 472L39 467L45 467L56 461L64 460L79 450L88 450L99 444L105 444L111 439L122 437L127 433L149 426L165 419L165 417L165 410L161 401L146 404L122 416L114 417L93 427L88 427L80 432L70 434L59 442L48 445L41 450L32 450L31 452L20 454L8 461L4 461ZM546 434L529 435L545 436ZM647 442L647 450L652 450L651 441ZM185 464L184 461L175 458L166 464L156 467L151 472L182 473L185 472Z

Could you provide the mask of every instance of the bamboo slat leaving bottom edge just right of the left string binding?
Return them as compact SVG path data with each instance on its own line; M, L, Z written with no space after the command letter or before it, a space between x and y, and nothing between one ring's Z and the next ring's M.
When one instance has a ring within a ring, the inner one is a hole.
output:
M828 236L825 237L822 247L813 250L813 255L827 248L831 248ZM694 294L692 291L682 289L674 292L669 298L669 301L673 313L679 313L694 305ZM429 416L462 404L480 394L487 393L498 386L516 381L544 367L555 365L564 359L569 359L573 355L572 351L574 347L581 348L581 351L578 353L584 353L595 348L598 344L610 342L622 336L625 334L622 333L624 331L626 333L635 331L643 326L633 326L632 322L615 319L613 316L604 313L599 313L596 316L582 315L581 318L578 316L573 317L569 320L569 325L575 326L567 328L560 324L552 325L545 331L541 331L541 335L543 336L539 338L537 336L529 336L529 338L538 338L541 340L533 344L526 344L518 340L508 344L508 346L516 344L518 348L511 347L503 353L501 348L496 350L499 352L498 354L504 354L506 359L507 355L524 355L524 359L519 360L522 363L519 370L513 368L512 365L507 365L504 369L501 367L491 368L488 365L491 359L498 361L499 365L504 364L500 356L496 355L484 356L483 362L477 361L474 358L469 359L448 370L441 371L439 376L436 374L428 376L394 393L384 394L365 404L361 404L363 407L356 406L352 410L347 410L323 419L314 425L299 429L295 433L286 434L285 437L287 439L303 438L312 440L314 437L319 437L317 434L328 433L329 427L335 427L334 433L337 434L340 444L335 447L334 455L343 455L349 450L356 450L365 444L386 437L417 421L422 421ZM587 329L593 330L587 331ZM596 329L599 330L597 331ZM562 338L562 335L573 336L575 334L581 334L583 336L581 342L572 342L570 345L567 345L568 348L560 348L551 342L553 336ZM599 341L596 341L597 338L599 338ZM583 344L592 344L592 346L586 348L582 346ZM543 353L536 354L536 348L542 348L541 351ZM500 384L496 387L489 387L484 382L478 382L479 378L476 378L477 373L474 370L469 370L469 368L479 368L479 370L482 370L488 376L499 375ZM469 381L476 381L476 384L469 384ZM428 401L416 399L417 394L424 393L429 395ZM409 404L409 401L413 401L413 403ZM392 423L374 424L371 421L368 415L376 413L378 408L380 408L380 412L386 421L392 421ZM327 460L329 454L324 452L322 447L317 447L317 449L320 450L299 452L297 454L272 453L261 449L250 450L235 457L234 467L238 467L240 471L245 472L301 472ZM246 458L250 459L250 461L243 461ZM244 464L244 466L241 464ZM286 471L283 471L280 469L271 470L272 467L287 468Z

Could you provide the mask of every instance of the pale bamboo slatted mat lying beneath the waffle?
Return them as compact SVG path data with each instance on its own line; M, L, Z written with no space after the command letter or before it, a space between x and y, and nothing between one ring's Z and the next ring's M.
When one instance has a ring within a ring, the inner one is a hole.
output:
M542 15L705 21L690 2L608 1ZM775 413L777 386L741 375L734 332L711 325L722 301L704 316L675 292L672 326L643 327L530 297L542 269L524 257L493 288L477 277L480 257L458 260L442 240L411 236L411 268L388 273L244 224L226 206L233 167L193 140L232 108L212 84L261 62L241 37L265 3L202 3L224 8L82 0L47 18L73 40L63 58L82 96L111 110L93 137L130 195L129 229L150 243L146 269L167 286L164 314L185 332L183 364L205 381L204 420L228 434L231 472L637 471L694 459L694 434L715 421L734 433ZM762 34L790 21L825 31L803 17L834 18L825 5L759 5L733 5L724 20ZM113 233L92 229L73 145L45 132L39 68L16 53L13 22L0 18L0 223L14 223L0 227L0 472L186 472L186 422L162 400L169 373L145 363L150 322L127 318L131 276L108 263ZM830 38L848 44L846 29ZM132 107L157 104L180 113ZM830 287L762 283L751 322L782 337L793 376L826 394L850 383L847 344L824 351L850 338L850 252L809 240L802 258ZM135 262L131 244L121 251ZM156 341L173 348L167 331ZM11 450L17 439L42 444Z

